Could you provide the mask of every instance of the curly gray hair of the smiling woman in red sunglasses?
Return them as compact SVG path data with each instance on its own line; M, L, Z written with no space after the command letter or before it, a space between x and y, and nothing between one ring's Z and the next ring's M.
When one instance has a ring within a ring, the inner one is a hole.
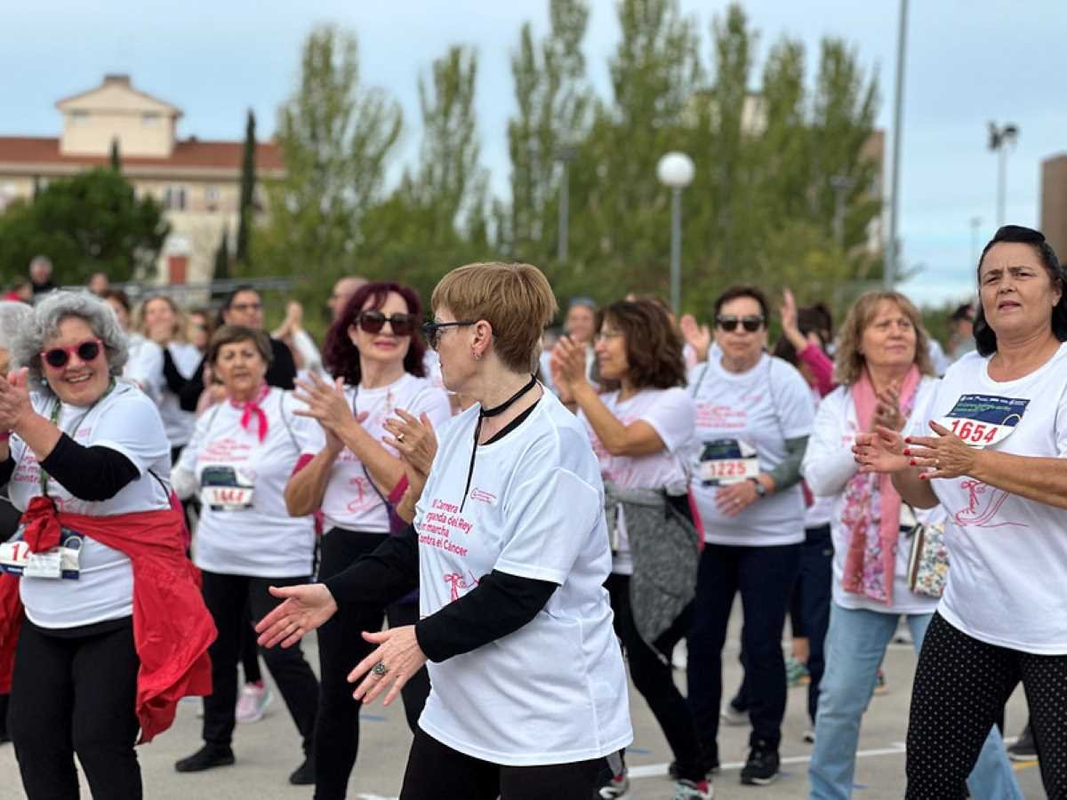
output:
M33 388L50 391L41 372L41 352L47 341L59 336L60 323L69 317L85 321L103 342L108 371L115 378L122 375L129 357L129 339L111 306L87 291L53 291L37 303L33 318L12 340L12 362L17 367L29 368Z

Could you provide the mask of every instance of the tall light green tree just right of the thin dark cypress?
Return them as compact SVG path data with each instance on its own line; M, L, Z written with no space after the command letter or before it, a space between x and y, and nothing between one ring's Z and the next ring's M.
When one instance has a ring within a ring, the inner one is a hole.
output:
M328 283L350 270L400 128L400 107L360 81L355 35L316 28L303 45L299 84L278 110L286 175L267 183L270 222L253 237L244 271Z

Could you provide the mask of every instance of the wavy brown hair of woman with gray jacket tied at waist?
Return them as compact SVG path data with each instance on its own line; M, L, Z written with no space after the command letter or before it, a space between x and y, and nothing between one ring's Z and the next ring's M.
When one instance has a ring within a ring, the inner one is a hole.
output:
M685 386L685 359L682 335L670 322L667 311L651 300L620 300L596 313L596 330L605 322L626 339L630 380L636 388L669 389ZM615 381L602 381L615 389Z

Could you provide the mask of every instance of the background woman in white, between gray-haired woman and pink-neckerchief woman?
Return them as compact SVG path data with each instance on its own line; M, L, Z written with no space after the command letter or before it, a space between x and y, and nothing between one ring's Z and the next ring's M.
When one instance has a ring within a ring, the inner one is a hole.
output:
M184 380L192 378L200 366L201 352L185 337L185 318L174 301L164 294L154 294L141 304L141 335L156 342L161 352L162 375L168 364L173 366ZM171 457L177 463L181 449L189 444L196 420L192 412L184 411L178 395L165 381L162 382L159 398L159 415L163 418L166 438L171 442Z

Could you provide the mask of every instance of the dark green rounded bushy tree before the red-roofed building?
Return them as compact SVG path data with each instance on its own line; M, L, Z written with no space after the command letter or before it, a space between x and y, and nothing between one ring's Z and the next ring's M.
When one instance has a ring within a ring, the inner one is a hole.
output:
M152 197L138 199L123 176L101 167L52 180L32 203L16 202L0 215L0 274L26 274L45 254L55 279L84 283L97 271L112 281L154 269L170 226Z

